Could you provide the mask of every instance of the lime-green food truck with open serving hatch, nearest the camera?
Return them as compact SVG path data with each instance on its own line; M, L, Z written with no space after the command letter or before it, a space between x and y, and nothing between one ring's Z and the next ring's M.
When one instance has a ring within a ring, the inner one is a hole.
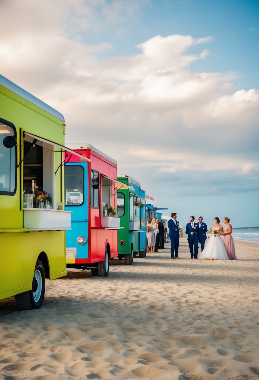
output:
M38 309L45 278L66 275L65 120L0 75L0 299Z

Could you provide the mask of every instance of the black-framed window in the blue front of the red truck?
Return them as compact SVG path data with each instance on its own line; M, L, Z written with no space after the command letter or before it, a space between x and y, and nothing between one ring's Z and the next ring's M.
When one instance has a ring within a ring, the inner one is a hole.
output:
M84 169L80 165L65 166L66 206L84 203Z

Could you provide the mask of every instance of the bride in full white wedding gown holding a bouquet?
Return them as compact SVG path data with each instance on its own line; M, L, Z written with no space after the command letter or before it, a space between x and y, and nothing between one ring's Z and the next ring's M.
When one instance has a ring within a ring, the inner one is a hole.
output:
M212 227L212 234L205 244L204 250L199 255L199 260L229 260L220 232L223 227L220 225L220 219L214 219L215 225Z

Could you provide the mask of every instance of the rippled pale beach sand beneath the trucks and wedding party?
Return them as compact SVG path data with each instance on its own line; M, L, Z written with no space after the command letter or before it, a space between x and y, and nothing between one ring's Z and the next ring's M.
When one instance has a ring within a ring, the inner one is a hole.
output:
M69 269L43 306L0 301L0 378L248 380L259 377L259 244L238 261L159 253L113 260L107 278Z

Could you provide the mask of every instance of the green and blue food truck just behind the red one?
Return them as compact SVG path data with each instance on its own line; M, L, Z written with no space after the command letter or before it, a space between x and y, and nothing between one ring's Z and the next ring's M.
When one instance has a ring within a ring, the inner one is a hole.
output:
M125 257L125 264L130 265L137 254L146 255L145 190L132 177L120 175L118 180L131 187L121 187L117 192L118 216L123 226L118 231L119 258Z

